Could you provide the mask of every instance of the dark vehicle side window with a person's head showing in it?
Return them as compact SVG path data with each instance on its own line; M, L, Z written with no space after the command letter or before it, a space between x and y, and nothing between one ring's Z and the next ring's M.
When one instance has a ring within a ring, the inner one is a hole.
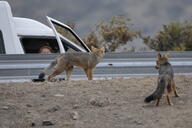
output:
M50 37L22 37L22 46L25 53L41 53L43 47L48 47L51 53L59 53L59 45L55 38Z

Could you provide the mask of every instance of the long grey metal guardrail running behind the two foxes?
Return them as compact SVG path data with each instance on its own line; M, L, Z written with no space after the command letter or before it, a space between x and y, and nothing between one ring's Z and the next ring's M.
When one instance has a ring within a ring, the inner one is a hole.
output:
M192 72L192 52L170 52L170 62L175 73ZM58 54L0 55L0 80L33 79L48 66ZM156 75L156 52L106 53L94 71L94 78ZM59 77L64 77L64 74ZM72 78L86 79L80 68L75 68Z

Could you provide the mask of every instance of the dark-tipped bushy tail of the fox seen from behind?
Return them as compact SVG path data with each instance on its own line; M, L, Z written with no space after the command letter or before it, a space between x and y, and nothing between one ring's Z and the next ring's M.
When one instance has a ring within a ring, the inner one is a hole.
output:
M166 81L165 77L160 78L156 90L151 95L146 97L144 101L146 103L149 103L153 100L161 98L165 91L166 84L167 84L167 81Z

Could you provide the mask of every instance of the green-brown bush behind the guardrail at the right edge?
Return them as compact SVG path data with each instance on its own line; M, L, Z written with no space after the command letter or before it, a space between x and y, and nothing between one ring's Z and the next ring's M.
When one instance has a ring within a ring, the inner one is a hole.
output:
M174 22L163 25L155 37L143 37L150 48L157 51L189 51L192 50L192 23Z

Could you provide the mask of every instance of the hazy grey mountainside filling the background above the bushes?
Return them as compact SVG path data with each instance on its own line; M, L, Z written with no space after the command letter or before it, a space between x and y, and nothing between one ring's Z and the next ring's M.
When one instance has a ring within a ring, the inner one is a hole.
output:
M84 36L102 19L125 15L134 29L153 35L162 24L192 20L192 0L7 0L14 16L46 23L48 15L59 21L76 23Z

